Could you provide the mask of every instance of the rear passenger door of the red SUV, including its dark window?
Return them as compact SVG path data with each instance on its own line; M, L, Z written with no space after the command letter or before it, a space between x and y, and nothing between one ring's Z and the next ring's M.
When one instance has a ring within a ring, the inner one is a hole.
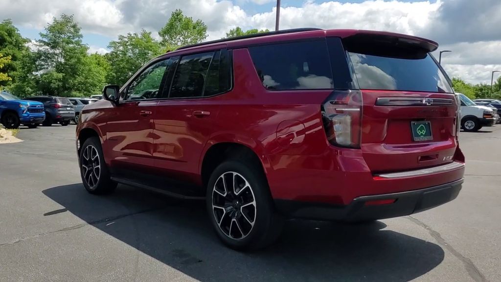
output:
M192 181L200 154L213 132L219 104L211 97L231 87L226 50L184 55L172 68L155 113L155 167L163 175Z

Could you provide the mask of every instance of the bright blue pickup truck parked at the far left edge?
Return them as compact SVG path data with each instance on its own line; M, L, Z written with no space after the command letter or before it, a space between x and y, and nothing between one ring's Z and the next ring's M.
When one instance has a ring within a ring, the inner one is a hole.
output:
M0 92L0 122L8 129L24 124L35 128L45 120L44 104L26 101L7 93Z

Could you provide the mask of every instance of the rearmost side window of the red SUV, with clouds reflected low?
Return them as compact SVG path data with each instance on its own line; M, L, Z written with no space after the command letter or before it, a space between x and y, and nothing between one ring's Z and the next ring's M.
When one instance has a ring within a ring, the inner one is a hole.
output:
M257 46L249 48L249 52L267 89L333 88L324 40Z

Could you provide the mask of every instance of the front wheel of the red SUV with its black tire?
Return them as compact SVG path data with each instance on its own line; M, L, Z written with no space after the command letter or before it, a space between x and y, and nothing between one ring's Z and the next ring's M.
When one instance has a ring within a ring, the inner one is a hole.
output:
M82 183L87 192L102 195L115 191L117 183L111 181L98 137L90 137L85 140L80 149L78 164Z

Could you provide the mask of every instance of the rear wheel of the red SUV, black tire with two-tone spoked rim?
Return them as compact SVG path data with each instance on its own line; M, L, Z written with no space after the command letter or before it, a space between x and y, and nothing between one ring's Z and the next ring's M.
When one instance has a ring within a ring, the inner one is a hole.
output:
M240 189L235 191L227 182L236 183ZM279 237L284 226L283 216L273 205L266 176L249 161L228 160L214 170L207 186L206 205L217 236L232 249L264 248Z

